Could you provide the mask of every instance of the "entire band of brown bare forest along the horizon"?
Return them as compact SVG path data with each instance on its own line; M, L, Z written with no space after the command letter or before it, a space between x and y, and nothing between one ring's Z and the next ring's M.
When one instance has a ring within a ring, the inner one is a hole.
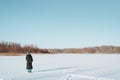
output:
M0 42L0 53L120 53L120 46L96 46L86 48L42 49L36 45L21 46L15 42Z

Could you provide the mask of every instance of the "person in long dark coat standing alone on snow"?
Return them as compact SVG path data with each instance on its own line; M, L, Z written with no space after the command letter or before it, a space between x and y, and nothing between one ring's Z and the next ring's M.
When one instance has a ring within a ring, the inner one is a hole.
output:
M27 61L27 67L26 69L28 70L28 72L32 72L33 66L32 66L32 62L33 62L33 58L32 55L30 54L30 50L27 52L26 55L26 61Z

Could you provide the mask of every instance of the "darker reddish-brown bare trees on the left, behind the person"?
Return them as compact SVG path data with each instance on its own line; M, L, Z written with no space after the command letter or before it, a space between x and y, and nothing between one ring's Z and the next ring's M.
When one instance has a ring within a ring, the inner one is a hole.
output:
M27 53L28 50L32 53L49 53L47 49L40 49L34 45L21 46L14 42L0 42L0 53Z

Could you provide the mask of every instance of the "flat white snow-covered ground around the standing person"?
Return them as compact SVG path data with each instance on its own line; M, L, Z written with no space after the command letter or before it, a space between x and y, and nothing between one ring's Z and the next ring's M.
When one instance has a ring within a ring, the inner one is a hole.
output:
M25 55L0 56L0 80L120 80L119 54L32 55L32 73Z

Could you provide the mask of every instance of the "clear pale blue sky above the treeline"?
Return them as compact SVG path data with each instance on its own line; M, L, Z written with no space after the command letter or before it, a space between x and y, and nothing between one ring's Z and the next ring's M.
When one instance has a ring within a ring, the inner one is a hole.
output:
M120 46L120 0L0 0L0 41Z

